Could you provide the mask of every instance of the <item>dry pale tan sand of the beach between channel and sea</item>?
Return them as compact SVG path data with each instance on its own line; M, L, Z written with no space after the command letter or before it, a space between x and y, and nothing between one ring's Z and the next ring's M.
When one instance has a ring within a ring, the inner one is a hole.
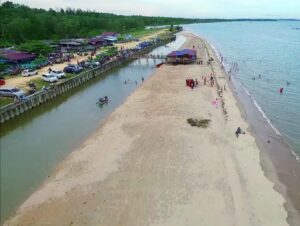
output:
M184 47L195 45L206 62L204 42L185 35ZM226 84L220 65L213 67ZM287 225L254 138L234 134L249 125L232 92L223 96L226 120L211 104L215 87L185 86L210 73L208 65L159 68L5 225ZM191 127L190 117L212 121Z

